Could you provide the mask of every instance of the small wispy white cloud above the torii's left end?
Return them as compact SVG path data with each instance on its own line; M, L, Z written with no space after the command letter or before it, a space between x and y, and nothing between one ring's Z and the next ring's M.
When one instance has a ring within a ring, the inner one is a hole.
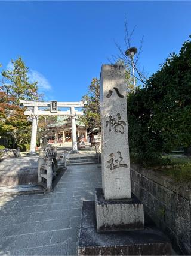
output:
M33 83L33 82L38 82L38 88L39 91L45 92L45 91L51 91L51 85L48 82L48 80L38 71L36 70L30 70L28 73L29 76L29 82Z

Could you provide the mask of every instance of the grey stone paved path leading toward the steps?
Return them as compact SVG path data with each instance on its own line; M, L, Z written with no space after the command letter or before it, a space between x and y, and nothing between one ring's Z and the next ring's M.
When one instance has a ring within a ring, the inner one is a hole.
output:
M70 166L50 194L0 198L0 255L75 255L82 201L94 200L101 168Z

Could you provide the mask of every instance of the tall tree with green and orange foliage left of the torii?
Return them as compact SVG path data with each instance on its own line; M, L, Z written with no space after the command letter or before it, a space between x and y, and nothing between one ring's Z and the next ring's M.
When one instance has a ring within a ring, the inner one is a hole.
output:
M38 82L29 82L28 68L21 57L11 60L13 69L2 71L3 80L0 86L0 134L17 143L29 143L30 122L24 116L25 108L20 106L19 99L38 100Z

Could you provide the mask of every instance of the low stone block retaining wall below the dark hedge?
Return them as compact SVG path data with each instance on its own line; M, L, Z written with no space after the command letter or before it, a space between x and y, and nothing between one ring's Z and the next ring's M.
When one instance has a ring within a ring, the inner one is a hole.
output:
M190 191L137 165L131 165L131 189L156 225L170 237L172 247L179 254L191 255Z

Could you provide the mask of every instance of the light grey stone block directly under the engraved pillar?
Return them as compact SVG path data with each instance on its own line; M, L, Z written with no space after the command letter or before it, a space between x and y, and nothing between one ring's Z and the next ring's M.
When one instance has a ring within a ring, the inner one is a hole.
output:
M130 200L105 200L103 189L95 193L97 230L143 230L143 204Z

